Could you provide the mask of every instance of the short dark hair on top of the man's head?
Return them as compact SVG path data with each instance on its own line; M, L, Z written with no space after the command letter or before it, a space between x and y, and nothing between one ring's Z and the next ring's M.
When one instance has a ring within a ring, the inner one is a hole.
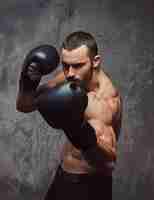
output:
M73 50L82 45L88 47L90 56L97 55L98 47L95 38L90 33L84 31L75 31L69 34L63 41L62 48Z

